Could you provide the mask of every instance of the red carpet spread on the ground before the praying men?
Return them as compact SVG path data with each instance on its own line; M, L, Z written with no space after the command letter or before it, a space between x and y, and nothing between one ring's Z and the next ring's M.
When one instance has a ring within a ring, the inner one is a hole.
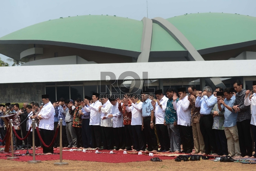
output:
M27 150L19 150L20 153L15 154L25 154ZM55 149L54 153L59 153L59 149ZM116 154L109 154L110 150L99 150L102 153L95 153L95 150L89 150L86 152L82 151L63 151L62 158L63 160L78 160L78 161L98 161L98 162L107 162L107 163L127 163L133 161L149 161L151 156L147 155L138 155L138 154L123 154L123 151L114 151ZM33 153L33 150L29 150L29 153ZM36 149L35 153L43 153L42 148ZM11 156L11 153L0 153L0 159L6 159ZM33 156L18 156L19 159L15 161L29 161L33 160ZM174 159L175 157L168 156L155 156L159 157L161 160L165 159ZM60 160L59 154L51 154L51 155L36 155L36 160Z

